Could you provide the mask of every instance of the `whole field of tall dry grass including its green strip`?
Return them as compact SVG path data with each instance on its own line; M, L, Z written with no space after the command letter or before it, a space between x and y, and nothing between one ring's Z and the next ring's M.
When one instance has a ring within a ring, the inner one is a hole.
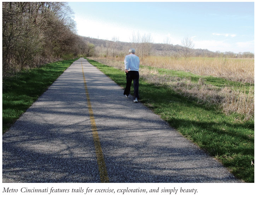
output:
M123 57L90 57L108 66L124 69ZM140 77L164 85L226 113L254 118L254 59L144 57Z

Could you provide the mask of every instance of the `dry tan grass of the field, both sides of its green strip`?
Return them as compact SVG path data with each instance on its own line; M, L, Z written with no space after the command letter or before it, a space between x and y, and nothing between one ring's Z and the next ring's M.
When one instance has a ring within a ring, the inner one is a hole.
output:
M148 83L155 85L165 85L174 89L181 95L196 98L198 102L204 104L217 104L220 106L223 112L226 114L237 112L245 115L245 119L249 119L254 117L254 85L250 86L249 93L246 93L245 89L239 88L239 90L234 89L232 86L223 85L222 88L216 87L211 84L205 84L205 81L202 78L198 80L197 83L193 83L188 78L180 78L173 77L168 74L160 74L158 73L157 68L168 68L174 70L184 70L190 71L194 70L193 73L197 73L199 75L212 75L242 81L242 82L250 82L254 83L254 78L252 77L254 73L254 67L252 65L252 60L237 60L237 59L210 59L203 60L203 58L195 59L191 58L191 60L170 60L172 64L167 64L166 58L162 58L163 62L160 61L162 57L156 58L155 65L152 63L149 66L155 67L156 69L149 69L148 67L140 68L140 78L143 78ZM120 59L106 59L106 58L91 58L95 61L101 62L105 65L113 66L120 70L124 69L123 61ZM149 61L151 58L147 58L147 60L143 61L144 65L146 61ZM152 60L152 59L151 59ZM196 61L198 60L198 61ZM225 64L224 64L225 61ZM219 62L218 65L214 66L214 63ZM247 63L250 65L248 66ZM160 66L162 64L162 67ZM193 66L191 66L193 65ZM199 65L199 66L198 66ZM208 65L208 66L202 66ZM223 65L226 65L225 68ZM222 67L221 67L222 66ZM229 67L229 70L228 70ZM250 67L250 69L249 69ZM190 70L188 70L190 68ZM215 69L214 69L215 68ZM207 71L207 69L209 71ZM244 70L244 72L242 72ZM225 71L225 72L224 72ZM245 72L246 71L246 72ZM251 73L249 72L251 71ZM206 74L206 72L208 74ZM238 72L238 73L236 73ZM215 73L215 75L213 74ZM232 76L229 76L232 74ZM234 74L235 73L235 74ZM245 74L246 73L246 74ZM245 76L246 75L246 76ZM229 76L229 77L228 77ZM243 77L244 76L244 77ZM241 90L242 89L242 90Z

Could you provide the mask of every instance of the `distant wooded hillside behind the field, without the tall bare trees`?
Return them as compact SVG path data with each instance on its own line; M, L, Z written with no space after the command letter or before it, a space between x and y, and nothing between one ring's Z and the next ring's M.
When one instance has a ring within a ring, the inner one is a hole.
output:
M113 39L114 38L114 39ZM173 58L179 58L183 56L184 46L173 45L171 43L153 43L149 40L141 39L139 42L121 42L117 38L113 37L111 41L102 40L91 37L82 37L86 42L92 43L95 46L93 55L99 56L123 56L127 55L130 47L136 49L136 55L140 56L170 56ZM135 39L134 39L135 40ZM254 58L254 54L251 52L212 52L208 49L195 49L191 48L191 56L194 57L227 57L227 58ZM139 51L139 53L138 53ZM144 53L142 53L144 51Z

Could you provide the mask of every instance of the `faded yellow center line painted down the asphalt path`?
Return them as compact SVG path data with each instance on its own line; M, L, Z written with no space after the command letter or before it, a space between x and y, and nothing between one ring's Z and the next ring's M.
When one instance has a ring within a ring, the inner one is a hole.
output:
M82 60L81 60L81 65L82 65L82 71L83 71ZM85 84L87 104L88 104L89 116L90 116L91 126L92 126L92 136L93 136L93 141L94 141L94 146L95 146L96 156L97 156L97 163L98 163L99 173L100 173L100 181L101 183L109 183L109 176L107 175L107 168L105 165L103 152L100 146L100 138L98 135L98 131L97 131L97 127L96 127L96 123L95 123L95 119L92 111L92 105L91 105L91 101L90 101L90 97L89 97L89 93L86 85L84 72L83 72L83 82Z

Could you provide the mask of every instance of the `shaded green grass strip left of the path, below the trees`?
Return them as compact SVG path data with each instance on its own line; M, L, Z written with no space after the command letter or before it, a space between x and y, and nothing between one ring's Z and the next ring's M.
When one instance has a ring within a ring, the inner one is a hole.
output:
M3 79L2 132L10 126L46 91L75 60L46 64Z

